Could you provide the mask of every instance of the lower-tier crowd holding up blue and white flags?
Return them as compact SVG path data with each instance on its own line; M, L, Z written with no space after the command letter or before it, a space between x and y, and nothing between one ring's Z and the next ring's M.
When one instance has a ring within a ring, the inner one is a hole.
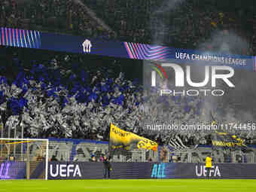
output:
M228 108L222 104L201 97L160 96L152 87L143 87L141 80L128 80L114 59L34 50L35 59L26 51L32 50L11 49L11 55L1 58L5 65L0 72L0 111L6 137L14 130L21 136L24 130L27 138L108 140L114 123L160 144L177 139L194 146L210 144L210 133L154 130L148 125L209 124L214 117L227 122ZM254 139L243 136L248 143Z

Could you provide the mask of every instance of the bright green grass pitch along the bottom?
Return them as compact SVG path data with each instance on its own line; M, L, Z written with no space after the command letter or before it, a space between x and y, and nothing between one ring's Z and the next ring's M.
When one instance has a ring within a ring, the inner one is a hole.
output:
M242 192L256 191L255 180L31 180L0 181L0 192Z

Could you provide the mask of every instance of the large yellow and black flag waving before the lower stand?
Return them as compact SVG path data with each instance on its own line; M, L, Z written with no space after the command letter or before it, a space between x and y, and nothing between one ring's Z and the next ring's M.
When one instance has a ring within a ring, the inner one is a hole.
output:
M131 150L133 148L145 148L148 150L157 151L157 142L153 142L150 139L121 130L112 123L110 129L109 142L111 149L123 148L125 150Z

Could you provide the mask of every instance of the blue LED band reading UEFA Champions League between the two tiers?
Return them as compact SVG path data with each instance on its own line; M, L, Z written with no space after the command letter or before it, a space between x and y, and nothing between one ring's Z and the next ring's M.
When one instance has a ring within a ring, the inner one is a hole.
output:
M231 66L236 69L250 71L254 69L253 56L202 52L154 44L108 41L102 38L60 35L6 27L0 28L0 46L56 50L128 59L148 59L186 65Z

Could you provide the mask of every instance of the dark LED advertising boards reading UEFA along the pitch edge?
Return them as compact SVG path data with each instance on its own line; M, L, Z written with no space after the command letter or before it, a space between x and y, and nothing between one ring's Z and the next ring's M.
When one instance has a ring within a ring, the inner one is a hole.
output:
M206 178L203 163L111 163L111 178ZM50 162L48 179L101 179L103 163ZM30 178L43 178L44 163L35 163ZM211 178L256 179L256 164L218 163ZM1 163L0 179L26 178L26 163Z

